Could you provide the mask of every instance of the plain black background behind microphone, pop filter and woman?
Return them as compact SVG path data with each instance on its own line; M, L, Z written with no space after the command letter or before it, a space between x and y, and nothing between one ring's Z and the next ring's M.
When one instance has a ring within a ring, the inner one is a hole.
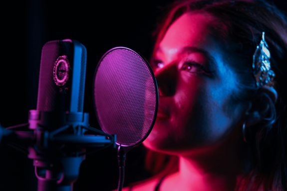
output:
M157 18L171 0L26 0L1 2L0 123L8 127L27 122L36 108L42 45L71 38L87 48L84 111L96 126L92 106L92 78L100 57L110 48L126 46L149 59ZM275 0L283 10L287 2ZM149 176L144 170L144 149L128 153L125 185ZM117 186L116 151L88 155L74 191L110 191ZM0 145L0 191L36 191L32 161Z

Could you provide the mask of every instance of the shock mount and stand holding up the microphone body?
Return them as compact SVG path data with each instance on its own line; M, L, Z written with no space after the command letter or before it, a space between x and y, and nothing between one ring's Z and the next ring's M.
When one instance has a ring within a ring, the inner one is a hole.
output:
M30 110L29 131L16 131L21 125L0 129L5 132L0 133L0 138L9 135L5 139L8 142L28 142L28 158L33 160L38 179L37 191L73 191L86 149L111 145L116 148L116 136L90 127L88 120L89 114L83 112Z

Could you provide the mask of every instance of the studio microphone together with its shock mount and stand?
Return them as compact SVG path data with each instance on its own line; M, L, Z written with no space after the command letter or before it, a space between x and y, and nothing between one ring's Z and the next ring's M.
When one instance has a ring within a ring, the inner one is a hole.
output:
M0 128L5 142L17 142L19 149L27 144L38 191L72 191L86 149L115 147L115 135L90 127L83 112L86 55L76 40L45 43L36 110L29 111L28 124Z

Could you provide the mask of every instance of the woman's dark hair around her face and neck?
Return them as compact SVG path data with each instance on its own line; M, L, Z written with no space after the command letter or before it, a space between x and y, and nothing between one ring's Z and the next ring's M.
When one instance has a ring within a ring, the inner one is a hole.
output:
M237 191L287 191L287 19L274 4L265 0L182 0L169 7L168 14L155 32L155 49L169 26L182 14L190 11L207 12L218 19L211 26L213 35L220 37L242 58L232 65L240 76L237 99L268 101L269 116L249 128L248 143L244 145L245 175ZM225 27L222 27L225 26ZM224 28L224 30L222 29ZM271 52L271 67L276 74L278 100L260 94L253 76L253 54L262 32ZM174 172L178 159L147 150L146 169L158 176Z

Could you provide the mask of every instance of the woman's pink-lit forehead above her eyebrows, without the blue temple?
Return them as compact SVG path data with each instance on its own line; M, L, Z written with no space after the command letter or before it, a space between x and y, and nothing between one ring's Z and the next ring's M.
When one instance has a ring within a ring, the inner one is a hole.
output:
M211 25L216 18L206 12L187 12L176 19L168 28L159 48L167 53L176 53L184 46L199 48L211 46Z

